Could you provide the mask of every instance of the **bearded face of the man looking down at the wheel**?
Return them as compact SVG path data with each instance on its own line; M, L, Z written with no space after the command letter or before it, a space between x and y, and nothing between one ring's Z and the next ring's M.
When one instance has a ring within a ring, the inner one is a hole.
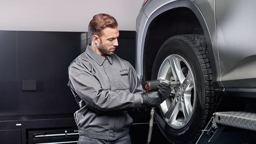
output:
M97 44L102 55L113 55L116 46L118 46L118 37L118 28L105 28L102 30L102 36L99 37L100 42Z

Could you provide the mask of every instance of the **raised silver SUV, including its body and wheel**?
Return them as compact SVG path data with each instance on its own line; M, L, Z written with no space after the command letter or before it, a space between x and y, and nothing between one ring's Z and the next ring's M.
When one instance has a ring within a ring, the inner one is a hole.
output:
M145 0L136 71L179 81L155 112L172 143L195 143L220 96L256 98L255 0Z

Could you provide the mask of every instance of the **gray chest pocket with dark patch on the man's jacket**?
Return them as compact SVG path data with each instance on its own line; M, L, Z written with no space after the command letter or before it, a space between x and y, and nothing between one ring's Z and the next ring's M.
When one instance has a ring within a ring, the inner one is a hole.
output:
M125 90L130 92L129 69L114 72L116 91Z

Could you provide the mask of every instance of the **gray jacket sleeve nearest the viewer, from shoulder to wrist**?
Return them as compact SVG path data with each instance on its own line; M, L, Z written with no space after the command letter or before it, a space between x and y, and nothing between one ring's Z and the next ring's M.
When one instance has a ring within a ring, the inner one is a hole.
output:
M141 107L140 94L102 89L99 81L87 67L85 63L74 62L69 69L70 81L76 93L87 105L103 112Z

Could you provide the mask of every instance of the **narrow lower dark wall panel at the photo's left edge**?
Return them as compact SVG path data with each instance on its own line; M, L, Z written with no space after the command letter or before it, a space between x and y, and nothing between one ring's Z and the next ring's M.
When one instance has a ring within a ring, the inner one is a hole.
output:
M0 116L17 115L17 81L0 81Z

